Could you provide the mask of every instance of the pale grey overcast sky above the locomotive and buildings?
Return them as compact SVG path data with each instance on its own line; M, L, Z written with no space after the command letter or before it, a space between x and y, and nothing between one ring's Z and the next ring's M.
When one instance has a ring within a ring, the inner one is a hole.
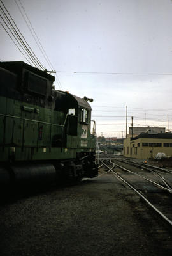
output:
M133 116L134 126L167 128L169 115L172 129L171 0L3 0L49 70L20 2L57 71L55 88L94 99L97 135L125 136L126 106L128 125ZM27 62L0 29L0 59Z

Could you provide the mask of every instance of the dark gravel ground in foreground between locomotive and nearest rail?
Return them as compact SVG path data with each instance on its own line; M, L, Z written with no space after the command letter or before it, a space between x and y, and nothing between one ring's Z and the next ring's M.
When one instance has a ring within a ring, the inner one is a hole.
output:
M172 255L171 237L106 174L1 204L0 255Z

